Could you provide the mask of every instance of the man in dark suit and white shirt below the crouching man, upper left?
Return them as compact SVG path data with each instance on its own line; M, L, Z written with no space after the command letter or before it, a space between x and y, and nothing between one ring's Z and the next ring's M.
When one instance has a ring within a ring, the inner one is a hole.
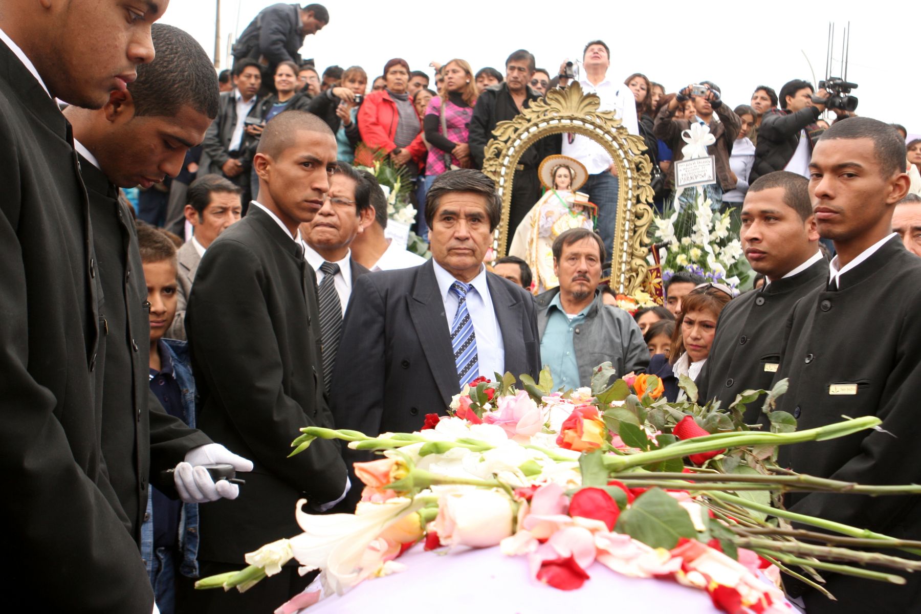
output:
M254 140L262 133L257 125L262 86L261 64L239 60L233 67L234 88L221 94L220 110L202 143L204 172L223 175L242 190L243 214L250 204L250 170L255 154ZM247 120L251 120L247 124ZM208 164L205 164L208 162Z

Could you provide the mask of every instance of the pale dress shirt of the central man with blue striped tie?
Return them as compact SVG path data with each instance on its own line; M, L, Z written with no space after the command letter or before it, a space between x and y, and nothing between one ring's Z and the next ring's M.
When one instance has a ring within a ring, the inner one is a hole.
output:
M435 269L435 278L441 300L445 304L445 318L448 319L448 330L454 323L454 316L458 311L458 296L451 292L451 284L458 281L454 275L445 271L436 261L432 261ZM486 267L481 265L480 274L471 282L473 288L467 293L467 311L473 321L473 332L476 335L476 352L480 358L480 375L493 379L495 373L504 375L506 372L506 346L502 342L502 330L499 330L499 321L495 318L493 299L489 295L489 284L486 283Z

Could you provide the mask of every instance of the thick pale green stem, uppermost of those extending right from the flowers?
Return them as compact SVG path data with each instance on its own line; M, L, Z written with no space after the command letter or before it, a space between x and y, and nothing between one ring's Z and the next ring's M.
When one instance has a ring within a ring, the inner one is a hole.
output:
M692 454L714 452L728 447L784 446L807 441L834 439L835 437L843 437L848 434L854 434L872 428L881 422L882 421L875 416L863 416L853 420L845 420L841 423L827 424L819 428L808 429L806 431L794 431L792 433L754 433L752 431L740 433L733 431L731 433L711 434L703 437L685 439L684 441L659 448L658 450L639 452L624 457L605 455L603 460L605 467L609 470L624 471L634 467L671 460L672 458L683 458Z

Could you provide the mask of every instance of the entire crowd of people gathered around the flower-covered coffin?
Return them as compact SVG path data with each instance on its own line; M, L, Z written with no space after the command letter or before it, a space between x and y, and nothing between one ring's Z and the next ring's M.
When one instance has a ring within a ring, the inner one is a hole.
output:
M788 467L918 481L921 142L901 126L836 108L821 125L829 92L799 80L734 109L709 81L673 94L638 73L622 82L608 46L589 41L582 90L643 137L666 178L660 202L682 132L708 126L717 181L705 192L740 210L762 282L739 295L674 272L664 305L631 315L602 283L616 165L581 135L521 156L510 253L484 263L503 215L479 170L485 145L498 122L567 87L571 65L554 74L518 50L502 74L456 58L433 66L434 89L400 58L373 79L358 66L320 74L298 51L328 10L274 5L217 75L189 34L154 23L166 3L46 4L0 11L11 603L271 611L310 576L286 565L243 594L192 585L297 533L298 499L312 514L355 509L351 464L365 454L318 440L287 458L298 429L412 432L478 377L544 366L556 387L579 388L609 361L613 377L661 377L669 400L688 377L724 408L787 377L777 410L801 428L883 421L789 446ZM361 168L383 157L414 183L429 260L385 235L388 196ZM167 177L136 207L121 192ZM766 428L762 402L745 420ZM787 503L921 539L916 496ZM787 595L810 613L911 611L921 595L911 577L884 590L845 577L828 578L837 602L797 582Z

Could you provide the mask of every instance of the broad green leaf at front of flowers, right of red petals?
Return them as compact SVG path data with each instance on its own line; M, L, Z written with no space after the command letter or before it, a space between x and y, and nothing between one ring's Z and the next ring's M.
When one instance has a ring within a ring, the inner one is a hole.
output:
M696 539L691 516L667 492L653 488L636 498L617 520L616 532L626 533L652 548L671 550L682 538Z

